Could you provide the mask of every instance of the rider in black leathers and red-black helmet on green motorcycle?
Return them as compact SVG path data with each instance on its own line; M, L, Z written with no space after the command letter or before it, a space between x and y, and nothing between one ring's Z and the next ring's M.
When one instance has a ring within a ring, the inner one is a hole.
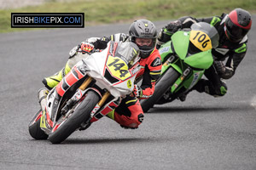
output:
M212 49L213 65L205 71L206 79L201 79L195 88L198 92L206 92L212 96L224 96L227 86L223 79L233 77L241 59L247 53L247 32L252 26L251 14L241 8L236 8L230 14L196 19L190 16L170 22L160 32L157 48L170 40L172 34L183 28L189 28L196 22L207 22L214 26L219 34L218 48ZM226 63L224 65L224 60ZM187 94L179 99L184 101Z

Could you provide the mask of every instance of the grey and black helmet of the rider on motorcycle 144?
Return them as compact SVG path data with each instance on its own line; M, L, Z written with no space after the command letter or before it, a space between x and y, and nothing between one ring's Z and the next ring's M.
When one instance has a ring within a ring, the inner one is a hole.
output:
M135 20L129 28L129 35L131 36L131 42L135 42L140 48L140 56L143 59L147 58L154 50L156 43L157 31L154 24L149 20ZM140 38L152 41L148 41L148 44L146 42L146 45L140 45L136 41Z

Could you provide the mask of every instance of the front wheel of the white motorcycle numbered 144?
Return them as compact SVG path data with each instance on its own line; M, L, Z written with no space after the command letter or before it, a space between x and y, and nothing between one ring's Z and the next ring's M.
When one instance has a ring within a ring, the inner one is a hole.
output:
M71 116L62 116L49 133L49 141L52 144L60 144L72 134L80 125L90 118L90 112L94 109L100 97L94 91L88 91L85 99L77 106Z

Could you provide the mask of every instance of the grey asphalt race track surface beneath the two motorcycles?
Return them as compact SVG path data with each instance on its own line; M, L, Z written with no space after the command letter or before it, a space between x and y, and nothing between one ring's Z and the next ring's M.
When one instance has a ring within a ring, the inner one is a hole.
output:
M255 20L255 15L253 16ZM166 21L155 22L158 28ZM223 98L192 92L157 105L137 130L103 117L62 144L34 140L41 80L60 70L86 37L127 32L129 25L0 34L0 169L256 169L256 22L248 52Z

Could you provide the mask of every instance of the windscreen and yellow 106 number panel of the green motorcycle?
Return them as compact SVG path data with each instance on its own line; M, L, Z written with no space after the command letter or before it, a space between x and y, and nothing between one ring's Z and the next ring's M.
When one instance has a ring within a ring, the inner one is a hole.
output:
M189 35L190 53L207 51L218 47L218 31L206 22L198 22L191 26Z

